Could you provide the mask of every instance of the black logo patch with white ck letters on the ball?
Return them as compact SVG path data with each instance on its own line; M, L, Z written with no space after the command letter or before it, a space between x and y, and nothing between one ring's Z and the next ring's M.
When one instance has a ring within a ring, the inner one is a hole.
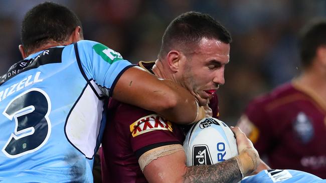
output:
M212 158L208 146L205 144L193 146L193 165L211 165Z

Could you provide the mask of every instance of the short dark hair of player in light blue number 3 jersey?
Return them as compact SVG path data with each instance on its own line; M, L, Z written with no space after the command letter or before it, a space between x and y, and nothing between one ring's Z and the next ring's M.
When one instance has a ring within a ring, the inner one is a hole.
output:
M22 22L21 39L25 51L49 40L66 41L77 26L81 26L81 22L68 7L54 2L38 4L26 13Z

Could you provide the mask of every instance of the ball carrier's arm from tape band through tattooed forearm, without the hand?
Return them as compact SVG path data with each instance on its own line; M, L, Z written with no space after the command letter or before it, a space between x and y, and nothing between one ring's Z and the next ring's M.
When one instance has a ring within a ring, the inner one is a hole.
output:
M235 158L214 165L187 167L184 151L152 160L143 173L148 182L237 182L241 179Z

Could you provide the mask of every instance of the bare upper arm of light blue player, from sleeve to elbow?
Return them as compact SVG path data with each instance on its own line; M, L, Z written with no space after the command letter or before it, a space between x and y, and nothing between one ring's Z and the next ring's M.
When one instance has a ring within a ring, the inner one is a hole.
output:
M175 92L166 80L138 66L128 68L117 80L112 97L147 110L160 112L174 101ZM172 104L173 105L173 104Z

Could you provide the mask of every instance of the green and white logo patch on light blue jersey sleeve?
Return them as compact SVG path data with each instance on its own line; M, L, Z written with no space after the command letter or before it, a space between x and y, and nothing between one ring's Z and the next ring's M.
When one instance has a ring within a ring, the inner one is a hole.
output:
M111 48L108 48L106 45L103 45L101 43L93 45L93 49L97 54L99 54L105 61L109 62L110 64L123 59L120 53L116 52Z

